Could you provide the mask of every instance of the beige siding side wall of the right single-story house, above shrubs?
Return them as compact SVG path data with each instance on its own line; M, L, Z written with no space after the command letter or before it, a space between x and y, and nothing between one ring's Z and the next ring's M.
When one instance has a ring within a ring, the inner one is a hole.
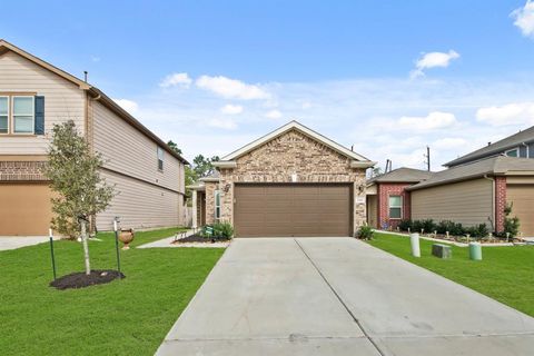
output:
M412 219L453 220L465 226L493 221L493 184L474 179L412 191Z

